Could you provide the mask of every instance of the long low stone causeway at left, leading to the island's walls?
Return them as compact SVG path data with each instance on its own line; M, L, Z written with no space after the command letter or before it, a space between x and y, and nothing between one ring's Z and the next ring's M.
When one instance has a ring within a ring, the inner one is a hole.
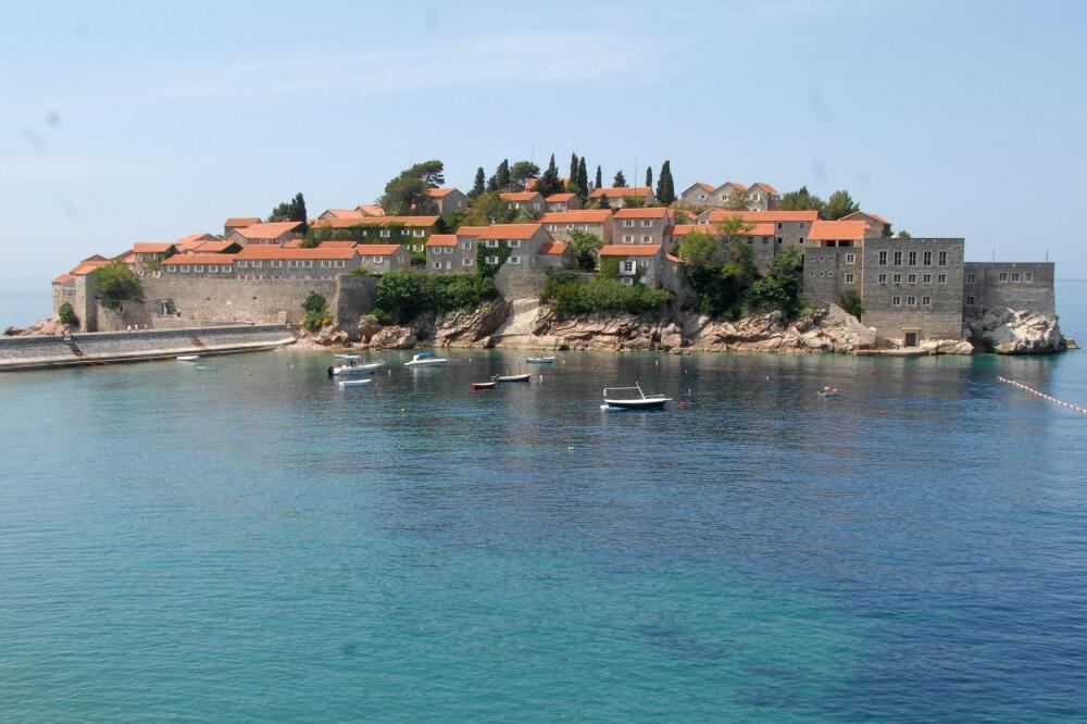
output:
M228 354L295 342L283 324L0 338L0 372L161 360L178 354Z

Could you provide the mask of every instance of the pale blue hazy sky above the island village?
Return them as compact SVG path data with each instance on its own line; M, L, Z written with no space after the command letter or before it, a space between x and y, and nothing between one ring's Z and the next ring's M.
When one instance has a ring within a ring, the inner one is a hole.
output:
M5 3L0 324L134 241L311 216L413 162L762 180L1087 277L1087 3ZM637 172L635 171L637 168ZM40 295L40 298L38 297ZM21 304L16 310L16 305Z

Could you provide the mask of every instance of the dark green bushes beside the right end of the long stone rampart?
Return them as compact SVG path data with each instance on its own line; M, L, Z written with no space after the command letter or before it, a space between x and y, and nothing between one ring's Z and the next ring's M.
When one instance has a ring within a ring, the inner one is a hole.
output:
M378 309L397 323L410 322L424 312L446 314L475 309L498 297L495 282L480 274L430 274L397 270L377 280Z

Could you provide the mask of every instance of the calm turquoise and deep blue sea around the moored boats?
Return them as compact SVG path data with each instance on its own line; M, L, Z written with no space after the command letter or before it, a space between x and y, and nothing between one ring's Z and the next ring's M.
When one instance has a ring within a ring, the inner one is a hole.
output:
M1087 352L442 354L0 375L0 721L1087 721Z

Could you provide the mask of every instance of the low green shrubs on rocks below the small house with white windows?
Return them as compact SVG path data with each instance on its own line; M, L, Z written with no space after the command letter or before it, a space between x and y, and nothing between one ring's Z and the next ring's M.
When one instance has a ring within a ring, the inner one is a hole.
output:
M604 312L645 314L670 302L672 292L641 284L628 286L604 275L583 277L572 272L552 272L544 283L540 299L560 317Z

